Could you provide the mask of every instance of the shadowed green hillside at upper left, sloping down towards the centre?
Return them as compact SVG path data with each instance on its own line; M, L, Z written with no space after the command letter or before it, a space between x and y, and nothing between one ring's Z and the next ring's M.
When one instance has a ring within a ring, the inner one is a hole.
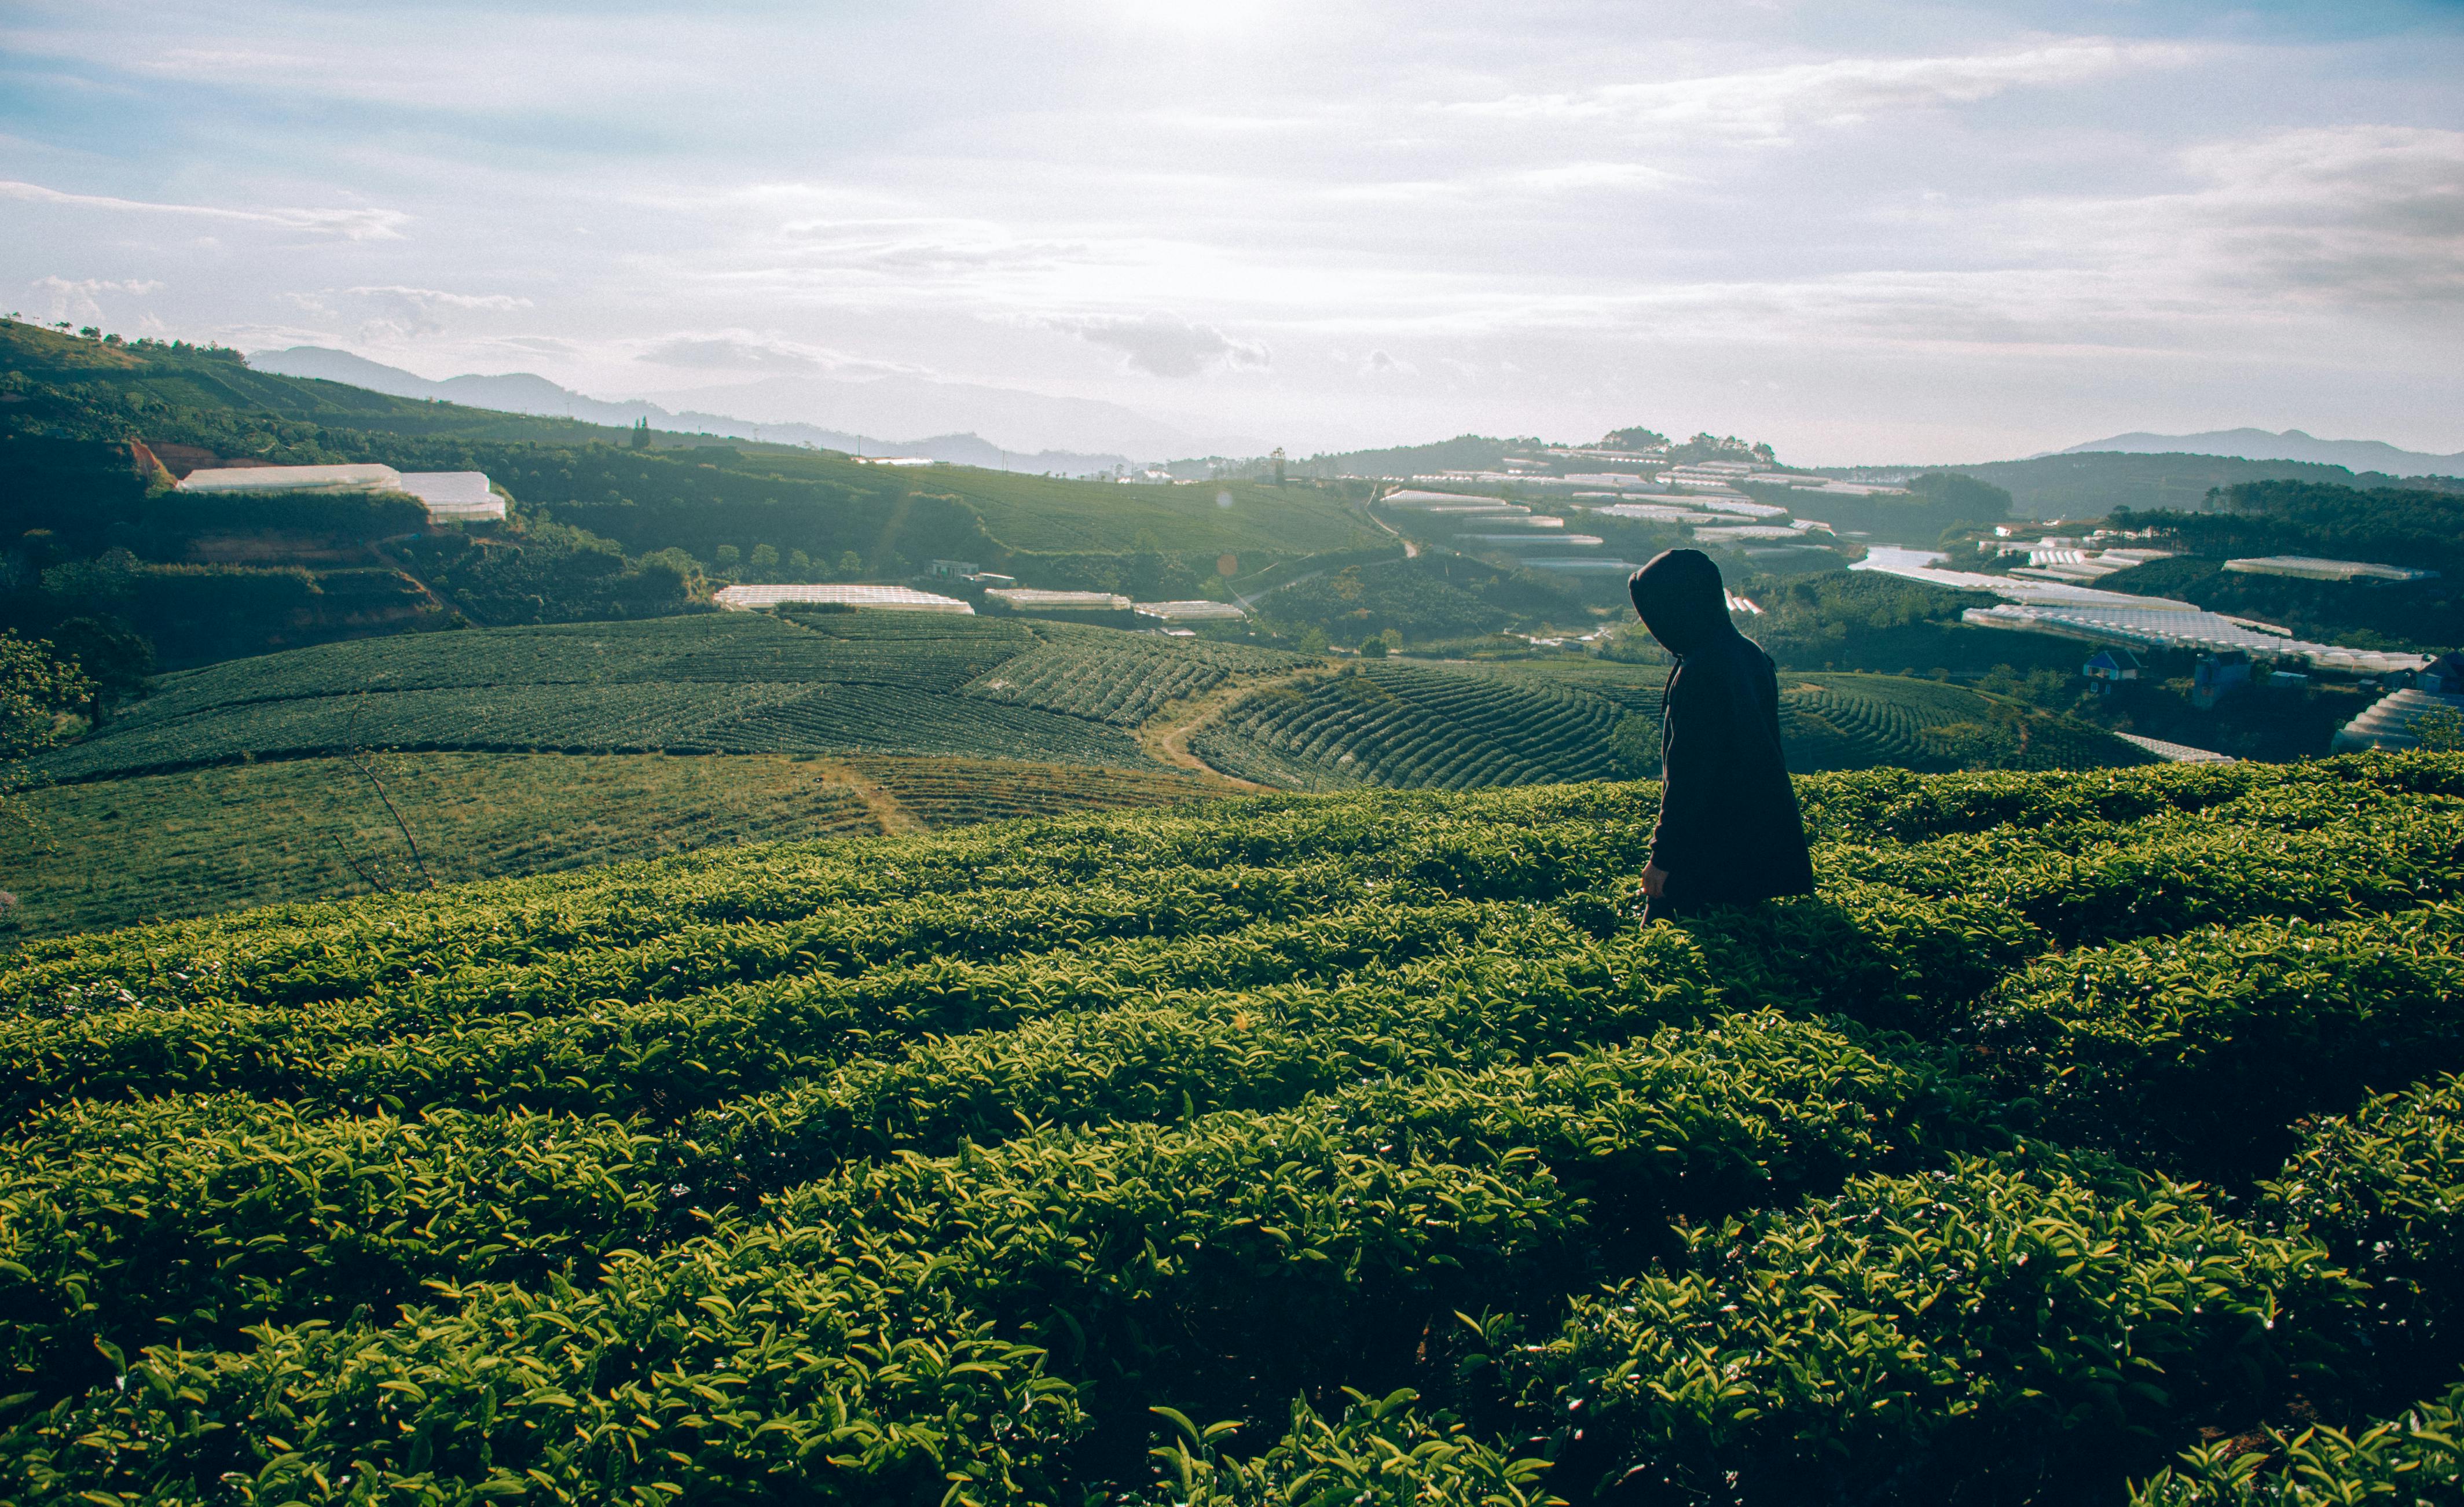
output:
M175 473L222 460L483 470L513 515L448 529L347 510L256 520L172 495L155 456ZM389 396L256 372L227 350L15 320L0 320L0 616L27 633L113 616L165 665L456 616L643 618L685 611L715 584L907 581L934 559L1030 586L1188 598L1372 532L1358 488L865 465ZM94 569L118 574L94 584ZM200 635L205 621L214 633Z

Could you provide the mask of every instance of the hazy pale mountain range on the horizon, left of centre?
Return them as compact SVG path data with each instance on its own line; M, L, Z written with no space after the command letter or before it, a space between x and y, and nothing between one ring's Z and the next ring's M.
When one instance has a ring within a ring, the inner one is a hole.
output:
M1237 453L1264 451L1244 438L1210 443L1119 404L966 382L924 382L919 377L872 382L771 377L737 387L606 401L530 372L431 382L416 372L323 345L264 350L251 355L249 364L283 377L320 377L392 396L508 414L572 416L618 426L648 419L653 428L683 433L811 443L867 456L929 456L995 470L1082 475L1163 456L1230 453L1232 446L1244 446ZM729 411L717 414L700 404L724 404ZM983 438L983 431L998 438ZM1023 448L1027 443L1045 448Z

